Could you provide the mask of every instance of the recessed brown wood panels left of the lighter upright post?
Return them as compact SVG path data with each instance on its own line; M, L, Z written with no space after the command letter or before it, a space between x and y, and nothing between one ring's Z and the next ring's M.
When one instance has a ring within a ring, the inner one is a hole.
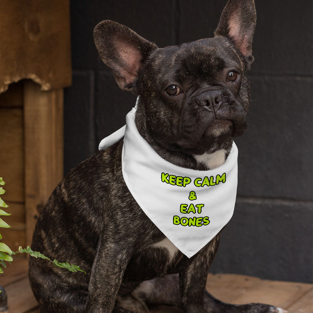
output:
M24 129L23 83L13 84L0 95L1 162L0 176L4 178L6 192L2 199L8 204L3 219L11 228L1 228L3 241L13 250L25 245L24 205Z

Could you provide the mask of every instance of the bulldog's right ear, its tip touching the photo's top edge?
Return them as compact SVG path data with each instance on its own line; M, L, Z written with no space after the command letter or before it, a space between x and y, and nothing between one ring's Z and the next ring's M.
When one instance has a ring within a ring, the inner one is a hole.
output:
M241 51L249 68L253 62L252 39L256 24L254 0L229 0L214 36L228 37Z

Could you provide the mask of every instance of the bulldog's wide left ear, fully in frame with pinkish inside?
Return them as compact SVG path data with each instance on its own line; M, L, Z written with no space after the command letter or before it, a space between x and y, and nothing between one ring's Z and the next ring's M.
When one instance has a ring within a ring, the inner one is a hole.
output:
M113 21L102 21L94 29L95 45L100 58L113 72L122 90L136 93L134 82L142 62L157 49L130 28Z

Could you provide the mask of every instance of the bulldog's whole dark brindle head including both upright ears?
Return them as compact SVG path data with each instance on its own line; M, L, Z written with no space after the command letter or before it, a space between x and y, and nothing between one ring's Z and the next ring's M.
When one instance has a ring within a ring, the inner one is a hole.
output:
M202 154L229 148L246 129L255 24L254 0L229 0L214 38L158 48L107 20L94 39L120 88L140 95L141 135L167 151Z

